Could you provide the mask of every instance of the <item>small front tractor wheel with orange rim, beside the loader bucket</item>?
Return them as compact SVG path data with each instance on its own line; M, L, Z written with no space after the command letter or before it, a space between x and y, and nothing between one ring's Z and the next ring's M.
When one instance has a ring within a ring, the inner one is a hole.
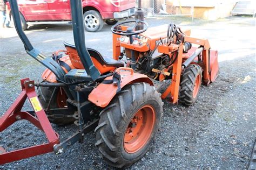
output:
M189 65L181 77L179 102L185 106L196 103L202 80L202 68Z

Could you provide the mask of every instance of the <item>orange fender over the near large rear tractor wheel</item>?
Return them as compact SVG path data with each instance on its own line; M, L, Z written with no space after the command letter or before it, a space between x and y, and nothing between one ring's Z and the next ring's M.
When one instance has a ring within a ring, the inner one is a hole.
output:
M116 69L121 75L120 86L121 89L127 84L132 84L135 82L145 82L153 86L153 82L144 74L133 73L133 69L119 67ZM106 77L105 80L112 80L112 76ZM88 100L98 107L104 108L109 105L112 98L117 94L116 84L103 84L100 83L95 89L92 90L88 96Z

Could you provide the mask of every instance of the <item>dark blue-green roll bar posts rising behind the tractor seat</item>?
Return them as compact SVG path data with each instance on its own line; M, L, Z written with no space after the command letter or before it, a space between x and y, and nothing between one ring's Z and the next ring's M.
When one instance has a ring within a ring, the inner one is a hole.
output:
M15 29L18 33L19 38L22 40L26 52L42 63L46 68L50 69L57 77L57 79L65 81L64 75L66 74L62 67L58 65L52 58L46 58L38 49L34 48L29 41L28 37L22 30L21 18L19 16L19 9L17 0L10 0L10 6L12 10L12 16L14 18ZM93 65L91 56L85 46L85 35L84 35L84 21L83 21L83 9L82 1L72 0L70 1L71 14L72 14L72 25L73 25L73 37L76 45L78 55L81 62L86 70L86 73L91 76L92 80L96 80L99 76L99 70Z

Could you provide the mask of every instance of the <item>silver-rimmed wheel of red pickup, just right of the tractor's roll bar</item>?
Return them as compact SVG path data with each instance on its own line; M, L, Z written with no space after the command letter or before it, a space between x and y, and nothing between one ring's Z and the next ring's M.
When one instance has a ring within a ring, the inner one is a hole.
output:
M84 13L84 27L86 31L97 32L102 30L104 21L98 11L90 10Z

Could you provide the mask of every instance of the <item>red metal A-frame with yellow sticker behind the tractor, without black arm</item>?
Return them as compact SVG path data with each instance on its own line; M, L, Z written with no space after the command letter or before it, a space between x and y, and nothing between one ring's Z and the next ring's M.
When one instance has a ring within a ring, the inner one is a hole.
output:
M22 79L21 86L21 94L17 97L15 102L5 112L5 114L0 118L0 132L8 128L16 121L25 119L31 122L33 125L37 126L38 129L42 130L45 133L49 143L26 147L11 152L6 152L2 147L0 147L0 164L6 164L8 162L52 152L53 146L55 144L59 144L59 135L53 131L48 117L46 116L42 105L39 103L37 98L34 81L30 81L28 78ZM26 111L21 111L26 98L29 98L29 101L37 117L32 116Z

